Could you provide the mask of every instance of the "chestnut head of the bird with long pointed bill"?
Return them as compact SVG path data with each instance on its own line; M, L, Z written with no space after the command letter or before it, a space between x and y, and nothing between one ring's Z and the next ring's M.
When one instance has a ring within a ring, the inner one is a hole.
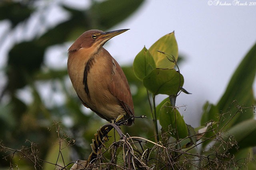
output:
M104 32L97 29L85 31L68 49L69 52L78 51L81 48L94 49L95 51L100 49L108 40L124 33L129 29L119 29L116 31Z

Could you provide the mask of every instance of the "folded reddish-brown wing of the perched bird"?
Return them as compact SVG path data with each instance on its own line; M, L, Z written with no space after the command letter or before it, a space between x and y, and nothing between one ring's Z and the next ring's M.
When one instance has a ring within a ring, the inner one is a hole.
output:
M126 112L129 115L134 115L132 94L126 76L124 75L121 66L116 62L114 58L113 64L113 69L116 69L116 71L113 75L113 80L110 83L109 90L120 101L120 104L124 107Z

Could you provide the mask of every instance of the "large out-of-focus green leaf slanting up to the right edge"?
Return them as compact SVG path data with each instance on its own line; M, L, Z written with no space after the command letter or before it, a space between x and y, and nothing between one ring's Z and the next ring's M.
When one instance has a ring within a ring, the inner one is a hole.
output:
M254 96L252 92L252 84L254 82L256 74L256 44L248 52L246 57L242 60L236 71L234 72L227 88L217 104L218 109L223 113L229 112L223 115L220 119L220 127L223 127L227 121L230 120L234 114L236 114L238 108L232 107L230 109L230 104L233 102L235 106L242 105L245 107L250 107L255 104ZM254 115L253 111L248 109L243 111L243 113L238 113L233 117L228 125L224 129L228 129L233 124L239 123L246 119L252 118Z

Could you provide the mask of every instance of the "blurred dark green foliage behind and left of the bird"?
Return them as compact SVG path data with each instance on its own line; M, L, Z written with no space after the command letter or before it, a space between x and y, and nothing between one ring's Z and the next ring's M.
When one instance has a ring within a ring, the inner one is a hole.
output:
M82 111L82 105L72 85L66 81L68 78L66 68L47 68L44 63L46 51L53 45L74 41L88 29L110 29L133 14L142 2L143 0L122 2L92 0L87 8L77 9L54 0L1 1L0 20L11 23L11 27L2 35L1 43L6 40L7 35L15 35L17 30L24 35L31 34L32 38L21 37L20 40L15 36L12 37L14 46L8 51L6 66L1 68L7 82L4 87L1 87L0 143L15 149L36 145L40 149L37 156L42 160L49 160L50 155L54 154L54 143L58 139L54 121L62 121L60 125L62 131L76 139L76 145L72 150L74 154L70 154L72 158L68 160L88 156L91 152L89 145L91 139L96 129L105 122L91 111L87 114ZM53 16L48 16L48 12L56 4L68 13L68 17L50 26L47 18ZM36 16L39 17L36 19L38 23L33 31L36 33L33 35L29 27L31 20ZM43 32L40 32L40 27L45 28ZM141 90L142 84L136 80L132 67L124 68L124 71L129 82L134 86L135 101L141 104L135 106L136 112L147 114L148 105L143 102L146 100L146 95L145 91ZM42 89L50 91L48 92L50 100L54 100L54 94L62 94L64 102L50 105L43 98L40 92ZM20 98L18 95L20 90L29 95ZM24 98L32 102L25 102ZM71 125L64 123L66 119L71 121ZM136 125L144 127L145 137L152 136L150 123L138 120ZM135 127L132 127L126 131L131 135L138 135L138 131L134 129ZM32 141L33 145L26 140ZM10 160L12 160L13 166L18 164L20 169L33 169L34 165L29 160L21 161L19 157L12 157L12 154L9 154L9 152L1 152L1 155L7 156L6 159L9 161L0 159L0 167L10 167ZM39 165L42 166L42 162Z

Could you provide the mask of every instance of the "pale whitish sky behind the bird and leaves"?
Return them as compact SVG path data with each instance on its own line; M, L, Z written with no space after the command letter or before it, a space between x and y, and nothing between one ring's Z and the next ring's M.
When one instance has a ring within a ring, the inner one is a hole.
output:
M80 8L86 7L88 2L72 0L72 3L78 4L74 6ZM247 2L247 6L234 6L233 0L226 0L231 6L209 6L208 2L146 0L130 18L111 29L130 30L104 46L120 65L132 64L144 45L149 48L163 35L175 31L179 53L185 57L180 65L184 88L192 93L180 95L176 104L186 105L186 111L185 107L181 107L180 112L186 123L194 127L200 124L203 104L207 100L213 104L218 102L234 70L256 43L256 5L249 6L250 1L246 0L240 0L240 3ZM61 59L63 66L66 66L61 57L63 54L56 49L61 48L52 48L51 53L57 55L49 55L46 63L59 66Z

